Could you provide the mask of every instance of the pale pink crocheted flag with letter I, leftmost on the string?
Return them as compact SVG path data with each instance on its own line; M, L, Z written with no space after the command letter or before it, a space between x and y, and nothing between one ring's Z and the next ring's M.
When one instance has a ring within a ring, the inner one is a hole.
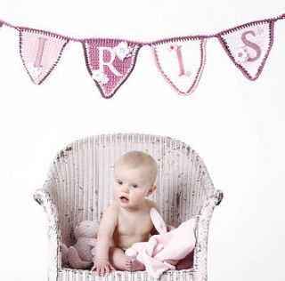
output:
M20 57L35 84L41 84L49 76L68 42L50 32L20 28Z

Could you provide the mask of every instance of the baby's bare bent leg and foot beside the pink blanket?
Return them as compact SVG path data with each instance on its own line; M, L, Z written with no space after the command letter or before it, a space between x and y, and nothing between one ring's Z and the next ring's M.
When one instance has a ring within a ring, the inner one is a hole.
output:
M110 262L118 270L137 271L145 269L141 262L126 256L122 249L110 247L109 254Z

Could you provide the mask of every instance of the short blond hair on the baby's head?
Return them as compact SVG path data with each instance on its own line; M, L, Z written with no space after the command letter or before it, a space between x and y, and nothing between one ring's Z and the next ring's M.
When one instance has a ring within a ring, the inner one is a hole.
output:
M129 151L126 152L123 156L118 158L116 162L116 166L118 165L128 165L133 168L137 168L140 166L147 166L150 169L151 173L151 181L154 183L157 173L158 173L158 165L149 154L142 151Z

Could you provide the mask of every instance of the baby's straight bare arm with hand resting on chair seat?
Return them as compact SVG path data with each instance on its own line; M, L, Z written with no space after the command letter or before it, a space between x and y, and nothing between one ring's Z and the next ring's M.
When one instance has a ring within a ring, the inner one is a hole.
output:
M95 247L95 264L92 270L96 269L96 274L109 273L110 269L115 268L109 261L110 239L113 236L114 229L118 225L118 210L115 205L110 205L103 213L97 235Z

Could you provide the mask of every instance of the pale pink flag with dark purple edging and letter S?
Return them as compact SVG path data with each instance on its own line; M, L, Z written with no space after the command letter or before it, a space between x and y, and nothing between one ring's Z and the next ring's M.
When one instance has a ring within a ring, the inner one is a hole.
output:
M273 46L273 20L261 20L223 31L220 43L249 80L256 80Z

